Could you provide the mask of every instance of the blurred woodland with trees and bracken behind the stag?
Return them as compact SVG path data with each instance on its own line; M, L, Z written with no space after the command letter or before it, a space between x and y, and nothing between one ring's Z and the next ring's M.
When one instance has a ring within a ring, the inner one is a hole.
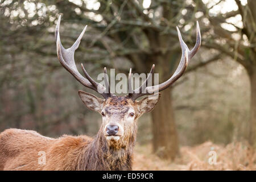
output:
M192 48L198 20L199 52L139 119L134 168L256 169L255 9L253 0L0 0L0 131L96 135L101 116L77 90L93 92L57 60L59 15L65 48L88 24L75 60L93 78L103 67L147 73L155 64L160 82L180 60L176 26Z

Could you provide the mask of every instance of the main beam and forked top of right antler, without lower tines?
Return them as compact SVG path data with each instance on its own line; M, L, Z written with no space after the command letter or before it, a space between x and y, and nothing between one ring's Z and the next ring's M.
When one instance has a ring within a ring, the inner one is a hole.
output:
M182 55L181 55L180 63L176 71L174 72L174 75L172 75L171 78L169 78L167 81L163 82L162 84L155 85L155 86L147 86L146 92L144 93L140 92L139 94L133 94L133 96L131 96L133 101L135 101L138 97L141 97L143 95L160 92L168 88L168 86L172 85L177 79L179 79L183 75L189 63L189 60L191 60L192 57L196 54L196 52L199 50L201 45L201 34L200 34L200 27L198 22L196 22L196 32L197 32L196 44L193 47L193 49L191 49L191 51L189 51L187 44L185 44L185 42L183 41L179 28L178 27L176 28L177 28L177 34L179 37L180 47L182 50Z

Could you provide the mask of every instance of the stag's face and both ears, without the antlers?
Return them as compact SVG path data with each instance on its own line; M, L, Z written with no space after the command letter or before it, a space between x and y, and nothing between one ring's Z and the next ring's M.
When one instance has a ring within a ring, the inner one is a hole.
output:
M159 96L148 96L141 101L129 97L110 96L105 100L79 90L84 104L102 116L102 132L112 146L125 147L137 133L137 119L154 109Z

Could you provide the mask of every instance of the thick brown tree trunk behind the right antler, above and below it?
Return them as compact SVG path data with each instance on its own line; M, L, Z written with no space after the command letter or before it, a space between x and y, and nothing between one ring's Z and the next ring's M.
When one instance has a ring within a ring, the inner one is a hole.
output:
M167 52L151 57L152 63L156 63L155 73L159 73L159 84L168 80L176 69L179 53ZM172 88L161 92L161 97L155 109L152 111L153 150L165 159L174 159L179 153L174 108L172 106Z

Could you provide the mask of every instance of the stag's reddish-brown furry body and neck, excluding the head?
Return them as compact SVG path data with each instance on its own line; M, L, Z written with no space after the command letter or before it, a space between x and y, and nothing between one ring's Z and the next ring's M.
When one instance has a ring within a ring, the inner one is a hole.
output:
M7 129L0 134L0 170L131 170L134 138L130 147L114 148L101 132L95 139L52 139L35 131ZM38 164L39 151L46 152L46 165Z

